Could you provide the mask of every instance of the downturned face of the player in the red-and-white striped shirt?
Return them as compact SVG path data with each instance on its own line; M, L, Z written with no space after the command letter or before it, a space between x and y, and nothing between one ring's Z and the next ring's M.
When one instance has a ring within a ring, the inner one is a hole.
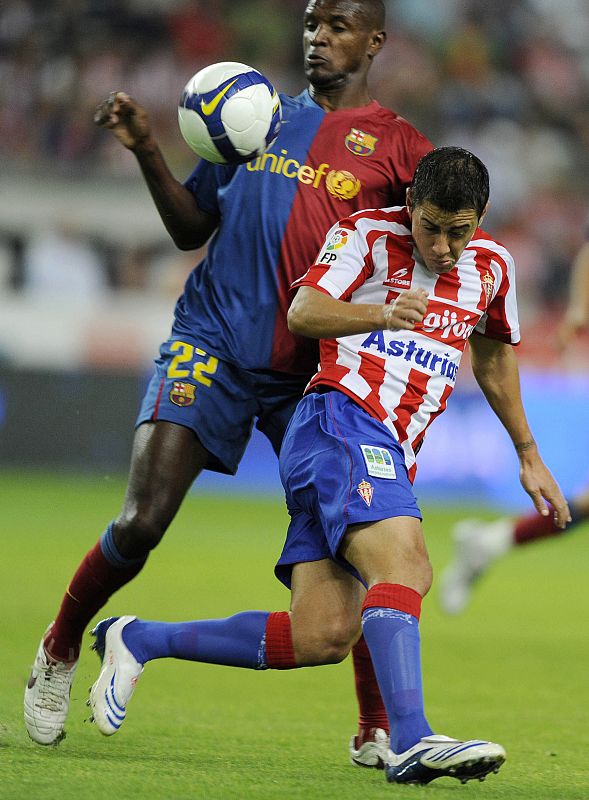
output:
M427 201L415 207L410 201L407 205L413 241L425 266L435 275L450 272L477 229L477 212L472 208L442 211Z

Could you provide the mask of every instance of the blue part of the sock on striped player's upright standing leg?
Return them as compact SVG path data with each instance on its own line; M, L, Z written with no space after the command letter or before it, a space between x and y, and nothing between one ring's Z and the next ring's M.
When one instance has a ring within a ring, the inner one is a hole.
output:
M391 750L402 753L432 733L423 710L419 623L394 608L367 608L362 630L391 728Z

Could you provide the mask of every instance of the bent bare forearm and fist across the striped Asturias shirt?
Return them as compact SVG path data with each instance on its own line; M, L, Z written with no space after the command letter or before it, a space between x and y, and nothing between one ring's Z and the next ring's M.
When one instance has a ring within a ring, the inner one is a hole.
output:
M334 339L377 330L412 330L427 311L423 289L402 292L388 305L346 303L312 286L301 286L288 312L292 333Z

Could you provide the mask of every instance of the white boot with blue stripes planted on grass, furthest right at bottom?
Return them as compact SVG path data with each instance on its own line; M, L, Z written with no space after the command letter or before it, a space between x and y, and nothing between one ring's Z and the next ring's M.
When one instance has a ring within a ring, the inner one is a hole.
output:
M461 783L474 778L484 781L489 772L499 771L505 758L505 750L494 742L424 736L404 753L389 751L386 776L389 783L419 785L436 778L456 778Z

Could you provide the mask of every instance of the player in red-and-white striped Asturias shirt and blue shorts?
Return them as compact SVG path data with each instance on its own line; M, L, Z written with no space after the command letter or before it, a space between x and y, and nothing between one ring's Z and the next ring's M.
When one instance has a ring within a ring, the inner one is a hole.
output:
M482 162L440 148L419 162L407 207L341 220L316 263L295 281L291 330L319 338L319 370L286 431L280 473L291 521L276 575L290 612L164 623L111 617L94 631L102 670L93 719L118 731L144 664L174 657L251 669L331 663L333 639L302 615L317 565L322 591L339 602L341 641L361 620L390 723L386 776L426 784L480 780L505 759L501 745L435 734L424 711L419 617L432 581L415 456L444 410L466 342L474 374L510 435L520 480L556 524L567 503L542 461L522 406L514 265L479 228L489 196ZM358 602L356 586L367 589Z

